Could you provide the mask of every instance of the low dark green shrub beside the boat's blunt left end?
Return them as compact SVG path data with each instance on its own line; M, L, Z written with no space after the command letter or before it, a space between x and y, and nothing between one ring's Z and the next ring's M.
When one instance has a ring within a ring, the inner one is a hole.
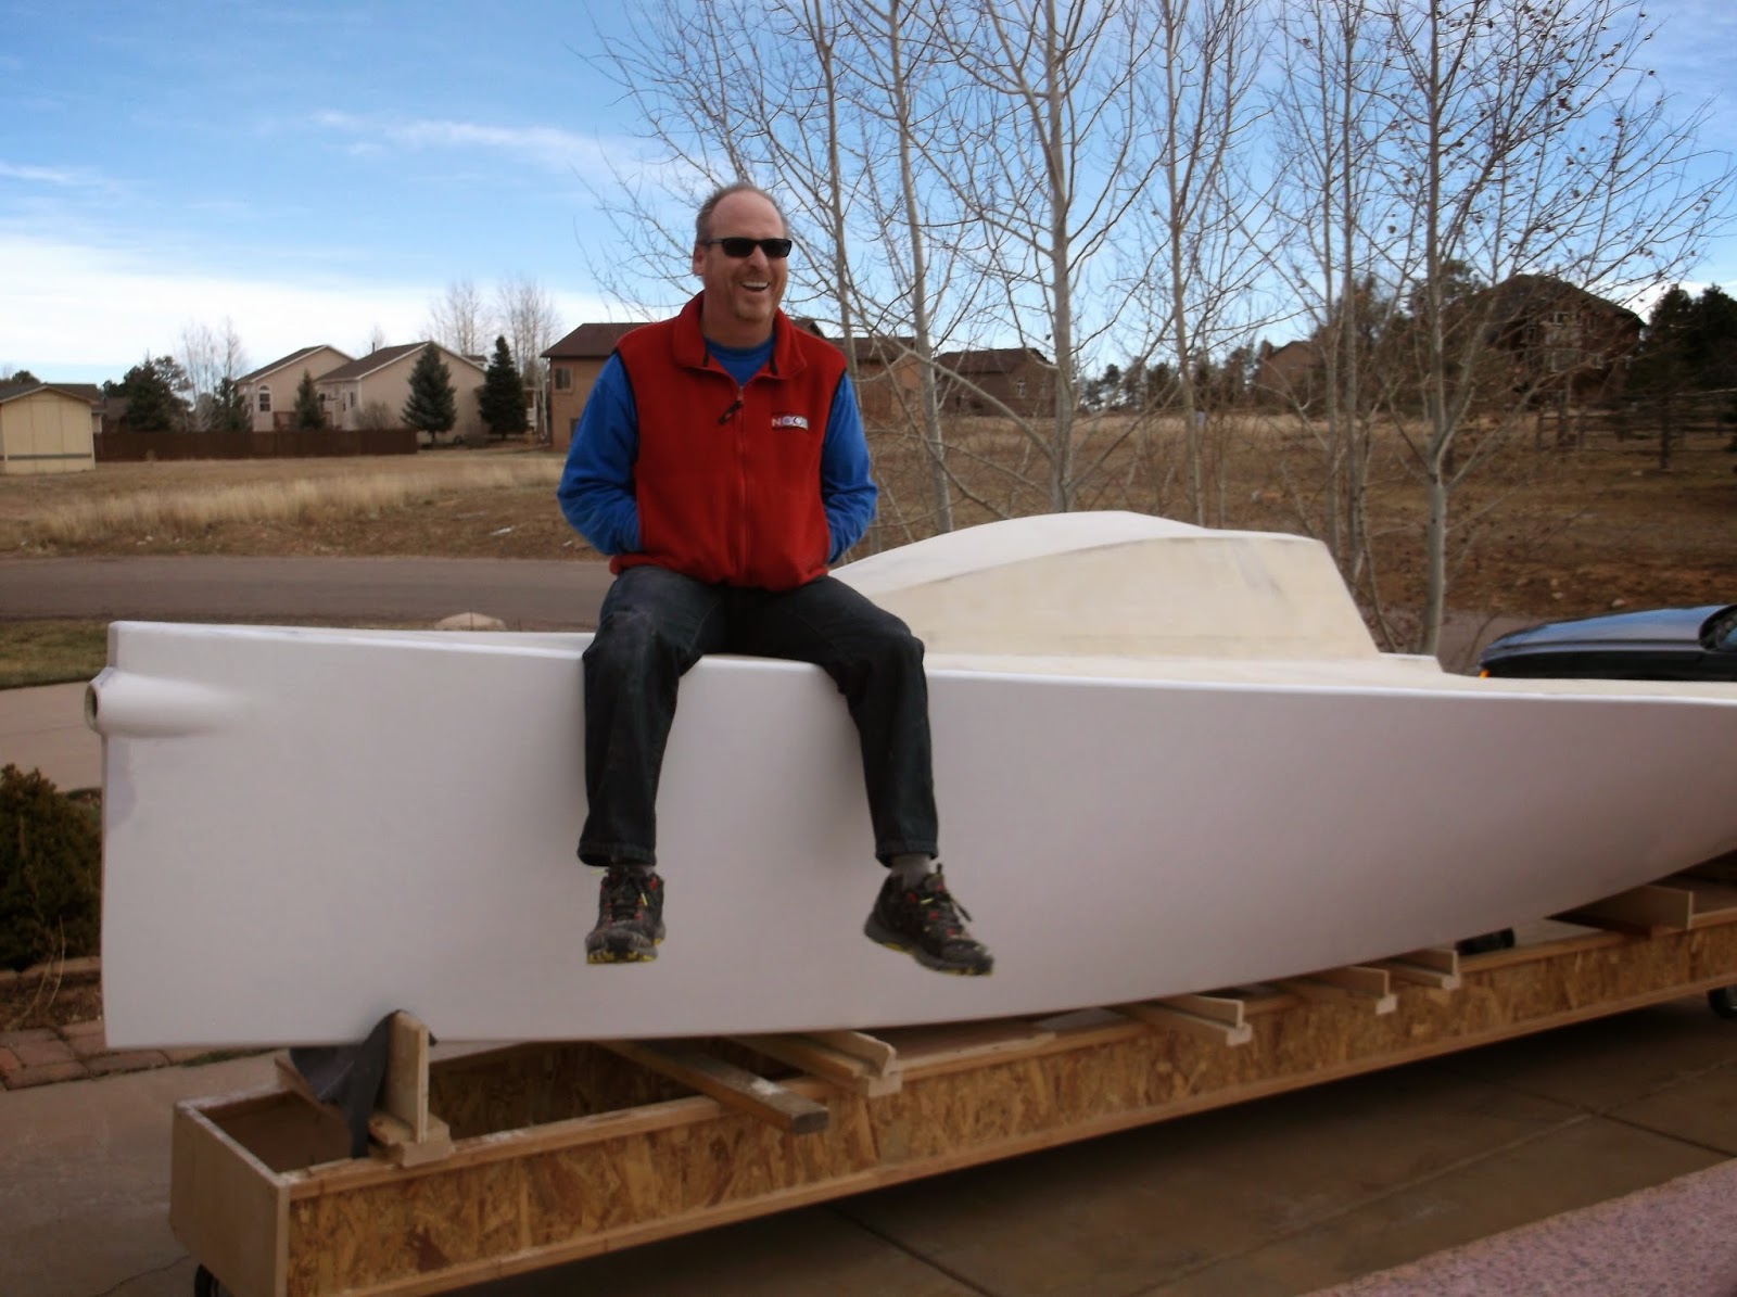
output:
M97 953L102 832L40 771L0 769L0 967Z

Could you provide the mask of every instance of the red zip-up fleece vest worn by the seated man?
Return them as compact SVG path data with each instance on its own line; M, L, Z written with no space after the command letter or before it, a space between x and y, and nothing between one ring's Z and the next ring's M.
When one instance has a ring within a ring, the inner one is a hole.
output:
M617 346L639 417L639 552L702 582L789 590L827 569L820 444L844 356L773 323L771 361L747 385L705 351L700 299Z

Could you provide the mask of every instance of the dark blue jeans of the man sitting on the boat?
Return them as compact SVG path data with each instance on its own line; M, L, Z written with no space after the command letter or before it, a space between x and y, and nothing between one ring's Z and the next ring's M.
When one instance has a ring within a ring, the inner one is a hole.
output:
M752 590L646 564L610 585L585 649L591 809L580 859L657 863L657 785L676 691L707 653L822 667L856 722L875 856L936 854L922 641L830 576L794 590Z

